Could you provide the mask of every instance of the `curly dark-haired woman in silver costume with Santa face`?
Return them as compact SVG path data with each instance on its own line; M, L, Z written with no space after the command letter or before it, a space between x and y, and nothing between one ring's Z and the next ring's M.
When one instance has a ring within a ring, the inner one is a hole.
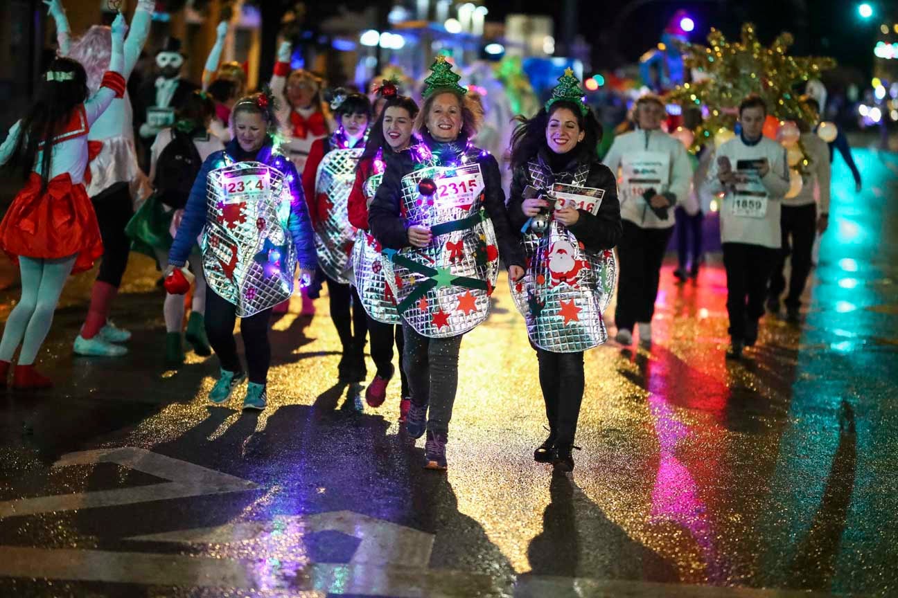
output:
M527 252L512 296L536 348L549 419L549 438L533 458L567 472L574 469L583 353L608 338L602 312L614 289L611 248L622 234L617 183L596 152L602 126L583 96L568 69L536 116L518 117L508 201Z

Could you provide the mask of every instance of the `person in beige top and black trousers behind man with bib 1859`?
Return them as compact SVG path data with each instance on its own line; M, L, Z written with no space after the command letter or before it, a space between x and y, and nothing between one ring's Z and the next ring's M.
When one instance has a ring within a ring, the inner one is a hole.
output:
M803 97L802 102L819 114L816 100ZM801 294L805 291L807 277L811 273L811 256L814 238L823 234L830 218L830 160L826 142L814 133L816 123L803 118L796 120L801 131L801 143L810 161L802 173L801 191L795 197L784 197L779 228L782 231L781 247L770 273L770 289L767 310L779 315L779 297L786 290L783 268L791 256L786 304L786 319L792 324L800 321Z

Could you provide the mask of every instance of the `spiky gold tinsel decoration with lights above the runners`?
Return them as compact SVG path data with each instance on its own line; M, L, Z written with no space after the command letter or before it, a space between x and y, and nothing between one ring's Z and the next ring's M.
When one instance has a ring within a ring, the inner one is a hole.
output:
M693 152L715 135L733 131L739 102L749 93L759 94L770 115L780 121L802 118L814 122L815 115L798 101L797 86L836 63L823 56L790 56L787 52L793 42L792 34L783 32L765 48L754 25L744 23L738 42L711 29L708 46L683 44L684 63L699 76L696 82L678 85L667 99L683 108L707 108L704 122L695 132Z

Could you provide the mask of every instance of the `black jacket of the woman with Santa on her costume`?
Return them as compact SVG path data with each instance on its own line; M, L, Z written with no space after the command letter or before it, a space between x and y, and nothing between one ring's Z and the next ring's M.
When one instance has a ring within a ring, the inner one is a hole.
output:
M544 164L548 164L549 160L543 160ZM568 165L560 172L552 173L554 182L570 183L574 178L574 173L580 163L577 160L571 160ZM548 166L546 167L548 169ZM511 222L515 232L521 234L521 229L528 217L524 215L524 187L533 185L530 179L530 171L526 164L517 166L512 173L511 180L511 196L508 198L508 220ZM612 174L611 169L605 166L598 159L594 160L589 168L589 174L586 176L584 186L596 187L605 190L602 198L602 205L599 212L593 214L585 210L577 210L580 212L580 218L577 222L568 227L577 240L591 250L611 249L618 244L623 235L623 226L621 224L621 202L617 195L617 180Z

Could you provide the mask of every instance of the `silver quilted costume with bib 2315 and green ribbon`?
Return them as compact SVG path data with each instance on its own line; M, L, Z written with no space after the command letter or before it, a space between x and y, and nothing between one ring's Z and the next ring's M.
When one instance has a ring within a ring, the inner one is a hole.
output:
M402 178L402 207L409 224L431 228L434 238L423 249L407 247L387 263L387 283L402 318L418 334L446 338L483 322L496 285L498 250L492 222L483 211L483 178L469 148L458 167L429 166ZM432 179L436 193L421 195L418 186ZM479 188L457 184L479 181Z

